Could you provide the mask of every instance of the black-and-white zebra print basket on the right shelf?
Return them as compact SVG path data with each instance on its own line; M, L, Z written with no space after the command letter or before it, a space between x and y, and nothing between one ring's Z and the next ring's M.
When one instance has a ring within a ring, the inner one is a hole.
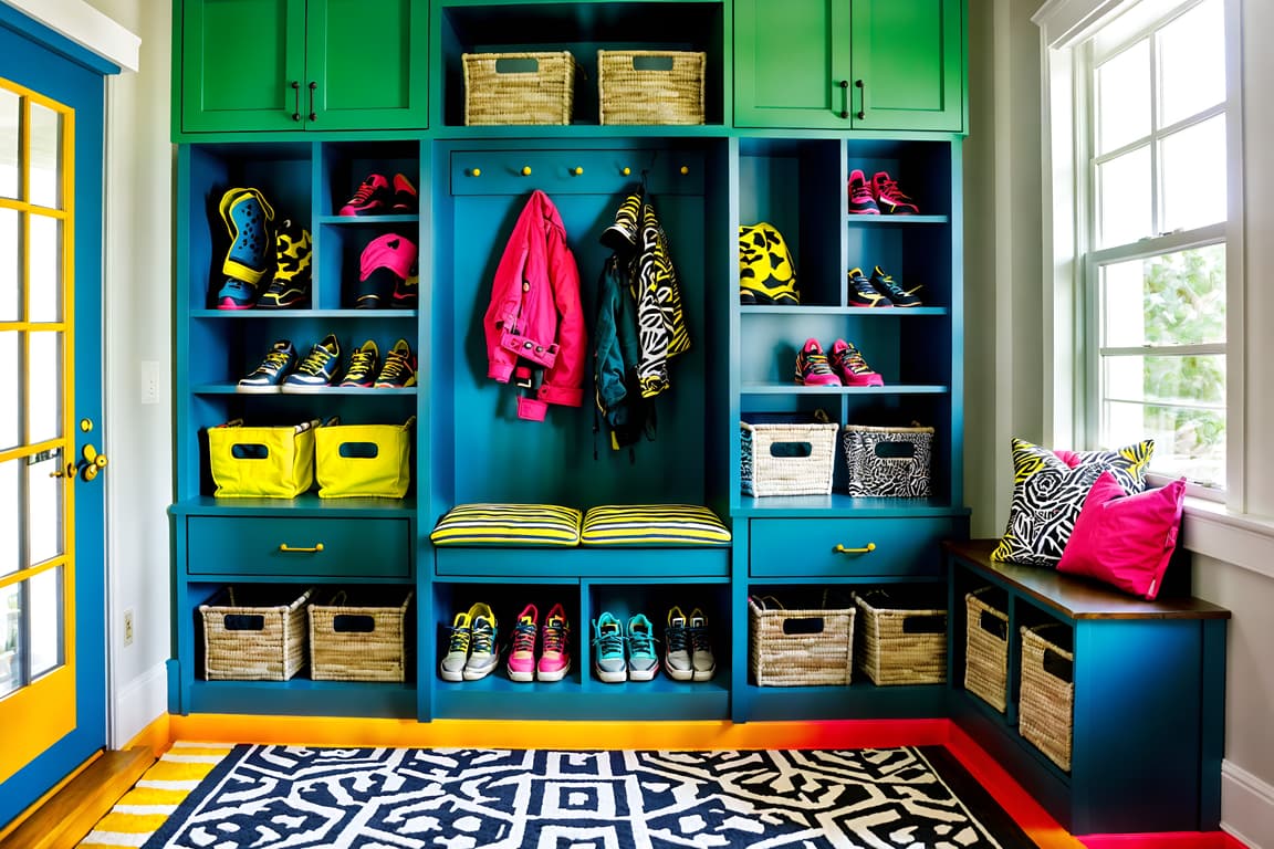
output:
M933 428L845 425L841 440L850 495L929 498Z

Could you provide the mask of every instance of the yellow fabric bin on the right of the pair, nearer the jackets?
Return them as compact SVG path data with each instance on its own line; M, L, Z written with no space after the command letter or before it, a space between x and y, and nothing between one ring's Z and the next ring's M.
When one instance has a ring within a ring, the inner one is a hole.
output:
M412 425L324 425L315 433L318 498L403 498L412 485Z

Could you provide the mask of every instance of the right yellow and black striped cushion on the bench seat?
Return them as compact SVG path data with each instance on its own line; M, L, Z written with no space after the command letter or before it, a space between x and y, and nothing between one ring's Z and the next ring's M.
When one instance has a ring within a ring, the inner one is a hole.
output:
M583 517L583 545L726 545L730 528L697 504L606 504Z

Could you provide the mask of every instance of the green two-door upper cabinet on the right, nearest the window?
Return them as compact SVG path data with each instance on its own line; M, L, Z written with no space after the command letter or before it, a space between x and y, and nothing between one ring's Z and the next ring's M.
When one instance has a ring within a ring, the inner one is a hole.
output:
M735 125L964 129L963 0L735 0Z

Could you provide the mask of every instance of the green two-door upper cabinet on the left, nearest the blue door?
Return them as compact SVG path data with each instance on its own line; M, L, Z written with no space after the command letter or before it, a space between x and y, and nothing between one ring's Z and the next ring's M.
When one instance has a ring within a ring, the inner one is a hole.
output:
M177 134L428 125L428 4L180 0Z

